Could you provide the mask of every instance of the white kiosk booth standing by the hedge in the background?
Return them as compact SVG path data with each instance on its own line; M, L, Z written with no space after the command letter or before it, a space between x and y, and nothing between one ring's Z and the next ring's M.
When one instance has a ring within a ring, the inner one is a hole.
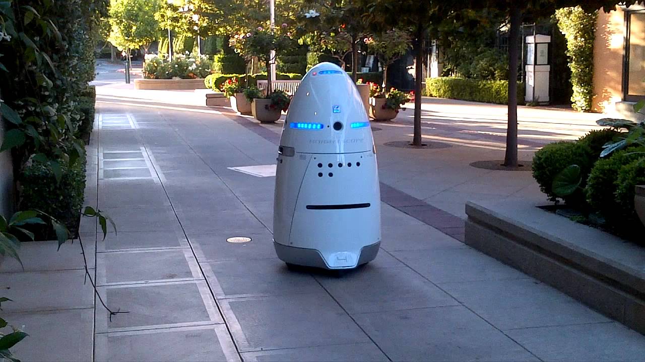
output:
M526 94L527 103L549 103L549 43L548 35L526 37Z

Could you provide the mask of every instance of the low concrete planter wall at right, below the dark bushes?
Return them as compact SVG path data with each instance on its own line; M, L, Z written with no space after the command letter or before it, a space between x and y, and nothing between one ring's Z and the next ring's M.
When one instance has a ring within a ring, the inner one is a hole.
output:
M645 334L645 248L528 202L468 202L466 244Z

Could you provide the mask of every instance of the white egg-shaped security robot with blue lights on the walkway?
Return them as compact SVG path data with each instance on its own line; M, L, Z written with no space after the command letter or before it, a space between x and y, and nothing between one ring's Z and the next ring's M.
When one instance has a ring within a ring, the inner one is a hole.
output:
M284 121L273 245L288 265L351 269L373 260L380 243L370 122L352 79L324 62L304 76Z

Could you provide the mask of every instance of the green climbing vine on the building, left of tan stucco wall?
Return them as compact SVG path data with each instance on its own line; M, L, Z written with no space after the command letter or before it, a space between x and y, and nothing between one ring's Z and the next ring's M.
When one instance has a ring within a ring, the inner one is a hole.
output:
M593 98L593 41L598 12L586 12L580 6L555 10L558 28L567 42L571 68L571 106L577 111L591 110Z

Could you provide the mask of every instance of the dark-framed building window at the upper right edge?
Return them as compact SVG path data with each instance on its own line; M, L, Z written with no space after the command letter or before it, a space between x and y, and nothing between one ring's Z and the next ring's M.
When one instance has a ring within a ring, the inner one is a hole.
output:
M626 12L624 100L645 99L645 10Z

